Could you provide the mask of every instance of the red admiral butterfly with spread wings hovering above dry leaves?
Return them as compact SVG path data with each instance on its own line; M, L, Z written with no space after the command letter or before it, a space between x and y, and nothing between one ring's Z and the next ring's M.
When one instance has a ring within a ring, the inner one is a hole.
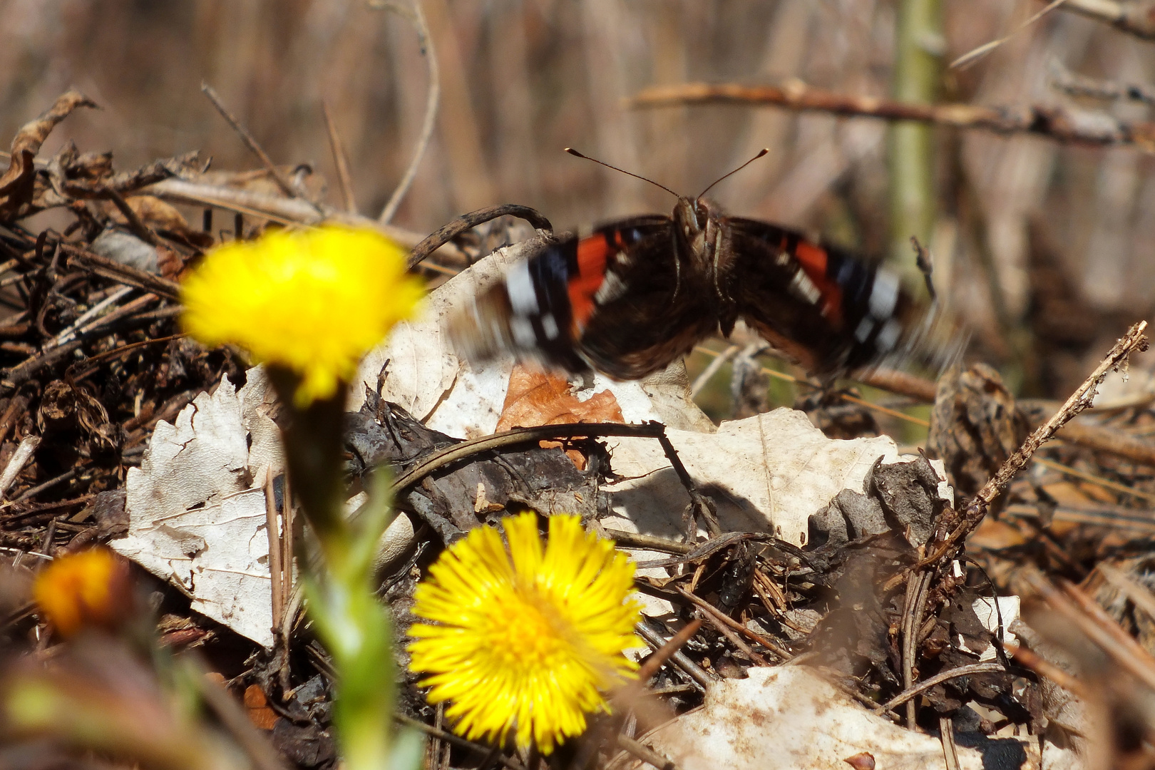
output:
M456 311L455 347L472 359L508 350L547 368L633 380L742 319L825 379L926 352L940 314L897 274L791 230L724 216L702 195L678 196L670 217L631 217L550 242Z

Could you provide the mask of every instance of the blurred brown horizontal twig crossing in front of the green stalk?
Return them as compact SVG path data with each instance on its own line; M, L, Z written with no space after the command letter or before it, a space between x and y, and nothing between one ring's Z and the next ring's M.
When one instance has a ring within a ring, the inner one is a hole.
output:
M782 85L681 83L655 85L626 100L632 107L687 104L773 105L799 112L826 112L851 118L915 120L999 134L1035 134L1058 142L1155 149L1155 124L1126 122L1104 112L1060 105L984 107L974 104L911 104L872 96L851 96L811 88L802 81Z

